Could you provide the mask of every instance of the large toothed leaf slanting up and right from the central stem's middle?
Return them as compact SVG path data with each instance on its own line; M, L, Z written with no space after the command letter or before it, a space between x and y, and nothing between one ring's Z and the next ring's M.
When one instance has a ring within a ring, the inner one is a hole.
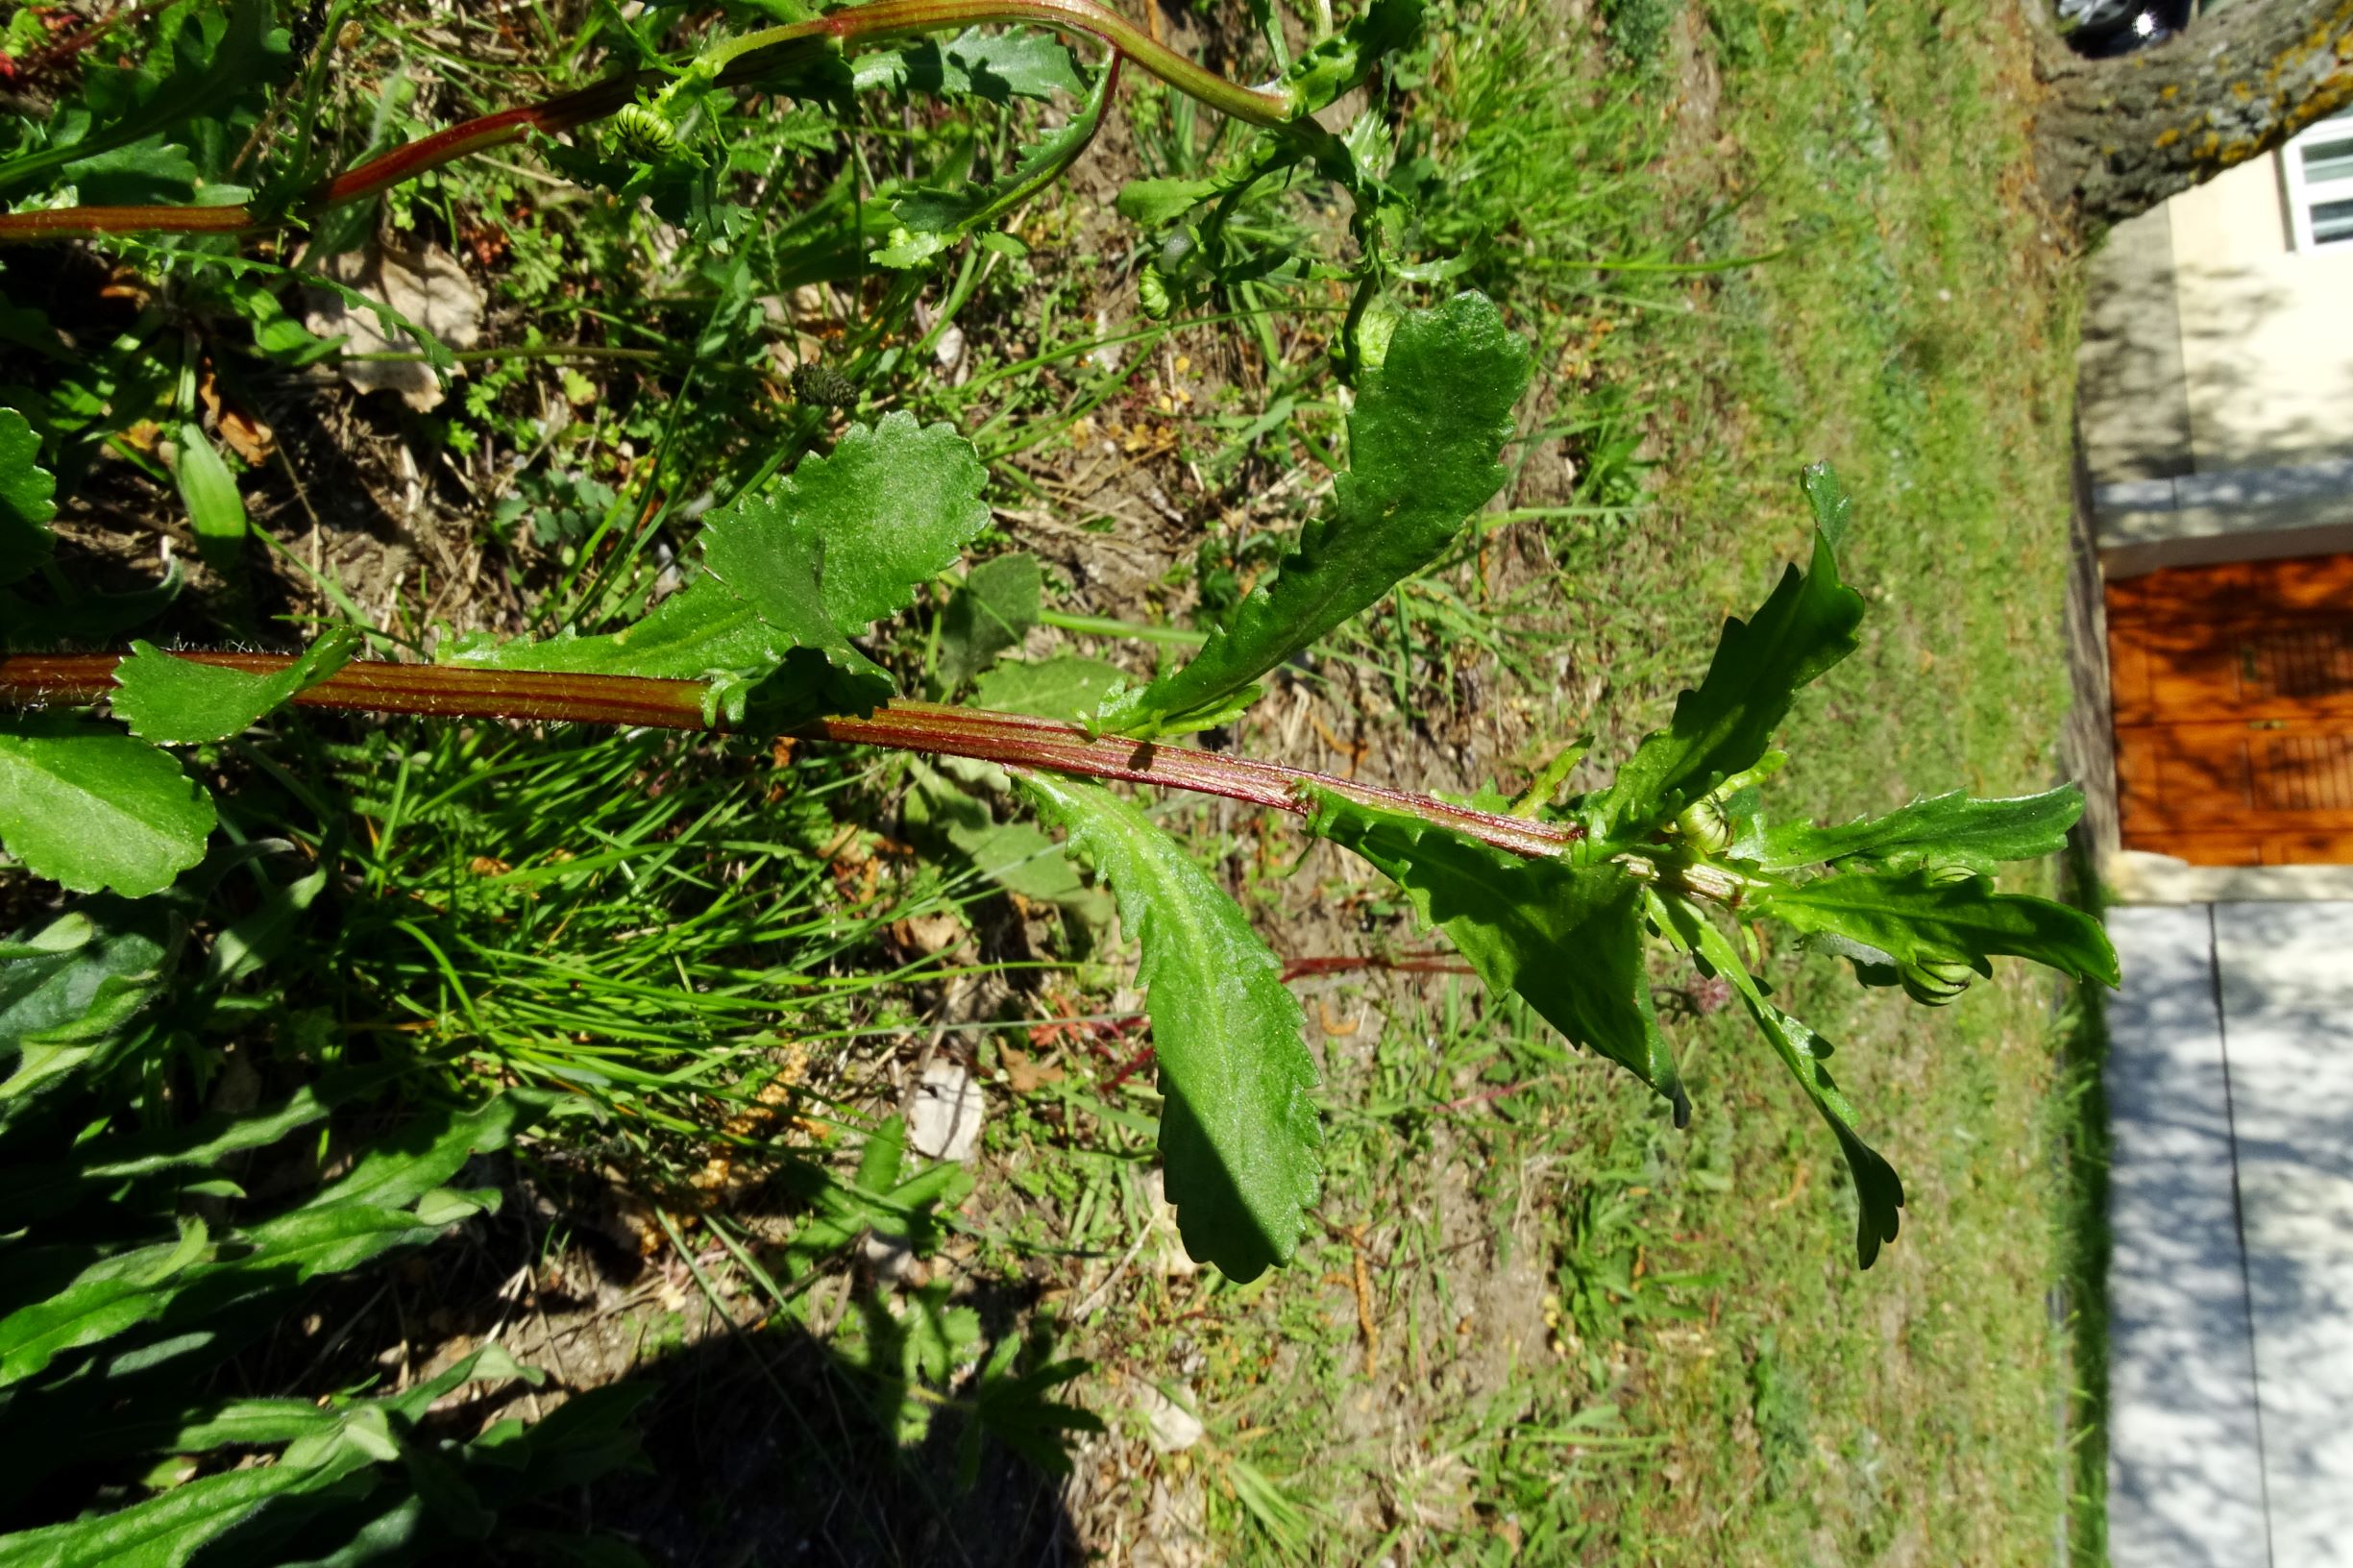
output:
M1219 723L1261 676L1435 560L1504 485L1497 454L1525 386L1527 344L1485 294L1407 313L1348 412L1348 471L1275 579L1174 676L1111 697L1099 727L1141 737Z

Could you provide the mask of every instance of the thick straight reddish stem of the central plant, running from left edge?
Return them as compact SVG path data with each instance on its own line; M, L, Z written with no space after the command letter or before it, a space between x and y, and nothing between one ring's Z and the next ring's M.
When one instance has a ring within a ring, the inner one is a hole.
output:
M115 664L120 657L0 657L0 702L96 702L115 687ZM254 676L278 673L289 664L280 655L184 652L179 657ZM704 718L704 690L699 680L471 669L464 664L355 662L296 695L294 702L351 713L532 718L659 730L722 727ZM1320 789L1365 805L1407 812L1527 857L1560 855L1581 838L1577 829L1555 822L1478 812L1466 805L1438 800L1435 796L1358 784L1355 779L1339 779L1306 768L1282 768L1226 751L1096 737L1078 725L1031 718L1026 713L955 709L936 702L892 702L866 716L819 718L795 730L795 735L929 756L969 756L1007 768L1040 768L1045 772L1068 772L1089 779L1184 789L1285 812L1306 812L1311 789Z

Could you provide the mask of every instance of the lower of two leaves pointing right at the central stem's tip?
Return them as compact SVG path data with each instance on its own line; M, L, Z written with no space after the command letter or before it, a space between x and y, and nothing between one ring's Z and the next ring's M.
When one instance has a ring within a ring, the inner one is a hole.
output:
M1897 965L2033 958L2075 979L2118 982L2115 949L2099 921L2024 892L1995 892L1984 876L1937 871L1840 871L1777 888L1751 904L1758 918L1807 935L1831 935L1885 954Z

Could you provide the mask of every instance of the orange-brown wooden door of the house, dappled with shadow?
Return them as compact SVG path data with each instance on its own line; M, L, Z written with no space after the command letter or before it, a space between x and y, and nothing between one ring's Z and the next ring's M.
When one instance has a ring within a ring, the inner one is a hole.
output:
M2127 850L2353 864L2353 553L2108 584Z

